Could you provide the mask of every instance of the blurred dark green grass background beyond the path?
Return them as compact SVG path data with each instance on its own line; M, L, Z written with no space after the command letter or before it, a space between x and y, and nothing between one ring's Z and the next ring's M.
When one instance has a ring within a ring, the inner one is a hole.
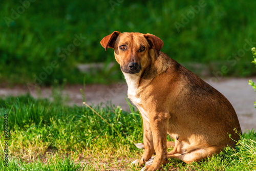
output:
M250 63L250 49L256 46L255 7L255 0L1 0L0 85L74 84L84 77L87 83L118 81L119 66L108 67L115 61L113 50L105 52L99 44L115 30L157 35L164 42L162 52L185 66L190 63L187 67L197 74L194 63L206 66L211 75L251 76L256 73ZM79 63L91 62L103 62L103 70L77 69Z

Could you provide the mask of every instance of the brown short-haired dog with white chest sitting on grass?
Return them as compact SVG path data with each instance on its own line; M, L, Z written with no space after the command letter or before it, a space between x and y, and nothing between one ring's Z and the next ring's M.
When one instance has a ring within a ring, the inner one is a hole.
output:
M223 147L234 147L241 132L230 102L178 62L160 52L163 41L152 34L114 31L101 41L105 50L113 48L116 61L128 84L128 97L137 106L144 127L144 154L139 166L156 154L157 170L169 158L191 163ZM175 142L166 142L169 134ZM229 138L229 134L231 138ZM167 145L173 151L167 153Z

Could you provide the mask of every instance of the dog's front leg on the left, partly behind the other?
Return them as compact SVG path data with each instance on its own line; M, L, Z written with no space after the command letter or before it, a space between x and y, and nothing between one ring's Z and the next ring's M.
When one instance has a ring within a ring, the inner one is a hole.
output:
M145 162L155 154L152 130L150 122L143 118L143 143L144 143L144 153L139 161L139 166L142 167Z

